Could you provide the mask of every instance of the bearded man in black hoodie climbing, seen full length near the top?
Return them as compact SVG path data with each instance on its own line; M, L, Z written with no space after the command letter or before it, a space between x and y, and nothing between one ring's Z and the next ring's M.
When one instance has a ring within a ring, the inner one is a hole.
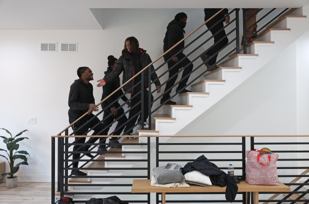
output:
M184 12L177 13L175 15L174 20L172 20L170 23L167 25L167 31L165 33L164 37L164 45L163 45L163 50L166 52L169 48L174 46L177 42L179 42L181 39L184 38L184 33L185 30L184 28L186 27L187 24L187 14ZM174 105L176 102L170 100L169 98L170 93L172 91L172 86L175 84L175 81L177 79L176 74L179 69L182 67L185 67L181 76L181 79L183 79L179 84L178 87L176 88L176 92L178 93L184 93L184 92L191 92L190 90L187 90L185 86L187 85L190 72L193 69L193 64L191 61L186 57L186 55L183 53L183 51L180 51L182 48L184 48L185 42L182 41L180 44L178 44L175 48L173 48L169 53L165 54L164 60L167 61L167 66L168 66L168 72L169 72L169 81L166 83L164 94L161 99L161 104L167 104L167 105ZM174 54L178 53L176 56ZM173 58L171 60L168 60L170 57ZM182 61L180 61L182 60ZM178 64L176 64L178 61L180 61ZM174 75L176 74L176 75ZM170 90L168 90L171 88Z

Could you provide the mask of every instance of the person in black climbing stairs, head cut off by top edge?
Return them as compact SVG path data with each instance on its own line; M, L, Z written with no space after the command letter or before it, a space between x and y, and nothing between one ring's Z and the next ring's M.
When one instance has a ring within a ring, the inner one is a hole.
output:
M222 8L205 8L204 9L204 13L205 13L204 20L205 21L208 20L221 9ZM220 13L218 13L215 17L213 17L211 20L209 20L206 23L206 26L209 28L209 30L213 34L214 44L218 42L216 45L213 45L213 47L211 47L206 53L204 53L201 56L203 62L206 61L205 65L207 66L207 71L213 71L219 68L216 64L217 56L219 54L218 51L229 43L229 39L227 38L225 30L223 28L224 27L223 22L225 23L230 22L229 10L227 8L224 8ZM207 59L209 60L207 61Z

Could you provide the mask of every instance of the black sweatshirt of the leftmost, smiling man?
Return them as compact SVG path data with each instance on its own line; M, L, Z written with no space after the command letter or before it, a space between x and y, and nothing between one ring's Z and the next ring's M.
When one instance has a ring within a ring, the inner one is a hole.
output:
M93 87L81 78L76 79L70 86L69 92L69 117L80 117L89 109L89 104L94 103Z

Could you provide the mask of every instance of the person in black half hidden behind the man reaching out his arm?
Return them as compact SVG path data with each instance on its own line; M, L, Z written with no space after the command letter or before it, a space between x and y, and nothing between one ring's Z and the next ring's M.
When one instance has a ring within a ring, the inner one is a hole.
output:
M115 68L115 66L117 64L117 60L118 60L113 55L109 55L107 57L107 59L108 59L108 62L107 62L108 67L107 67L107 71L104 72L105 73L104 77L108 76L112 72L112 70ZM106 98L109 94L111 94L114 90L116 90L119 87L120 87L120 78L118 76L111 83L108 83L108 84L102 86L103 93L102 93L101 100ZM123 91L121 89L119 89L116 93L114 93L109 98L107 98L104 102L101 103L102 109L104 110L103 125L104 125L104 128L106 128L102 132L102 135L108 134L108 130L111 127L114 119L117 120L118 123L115 127L115 131L113 132L113 135L120 135L122 130L125 127L124 123L127 121L128 118L126 117L125 114L123 114L124 110L123 110L122 107L120 107L121 105L118 102L118 97L121 96L121 95L123 95ZM125 95L123 95L121 97L121 99L124 102L127 103L128 107L130 107L130 101L128 101L128 98ZM107 107L107 106L109 106L109 107ZM118 107L120 107L120 108L117 109ZM109 139L109 146L115 147L115 148L121 148L121 144L118 142L117 139L118 139L117 137L111 137ZM102 143L102 142L100 141L100 143Z

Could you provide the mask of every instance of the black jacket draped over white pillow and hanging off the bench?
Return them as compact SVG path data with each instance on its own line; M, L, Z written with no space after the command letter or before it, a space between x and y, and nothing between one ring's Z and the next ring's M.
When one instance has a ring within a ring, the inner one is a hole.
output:
M230 202L235 200L238 186L234 178L226 174L223 170L220 170L216 164L210 162L204 155L199 156L193 162L188 162L183 167L182 173L186 174L193 170L198 170L201 173L208 175L214 185L220 185L221 187L227 185L225 198Z

